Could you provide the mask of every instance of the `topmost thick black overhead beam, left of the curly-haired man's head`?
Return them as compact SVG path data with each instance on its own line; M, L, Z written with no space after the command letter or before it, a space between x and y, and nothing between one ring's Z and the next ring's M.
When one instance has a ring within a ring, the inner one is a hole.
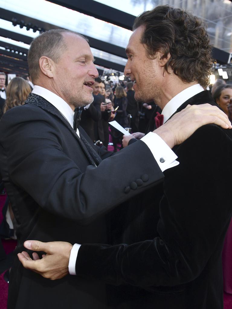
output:
M49 2L56 3L58 5L67 7L68 9L93 16L97 19L104 20L108 23L113 23L114 25L129 30L132 30L132 25L135 20L134 15L122 12L94 0L49 0Z

